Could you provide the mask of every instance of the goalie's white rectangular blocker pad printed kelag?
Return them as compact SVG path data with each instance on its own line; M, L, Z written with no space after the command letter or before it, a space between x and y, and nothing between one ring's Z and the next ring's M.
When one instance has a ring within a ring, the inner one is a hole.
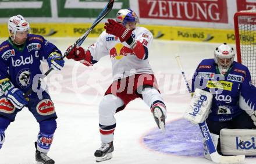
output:
M212 104L212 94L195 89L193 98L191 99L190 106L184 113L184 119L189 120L191 123L198 124L204 122L208 117L209 110Z

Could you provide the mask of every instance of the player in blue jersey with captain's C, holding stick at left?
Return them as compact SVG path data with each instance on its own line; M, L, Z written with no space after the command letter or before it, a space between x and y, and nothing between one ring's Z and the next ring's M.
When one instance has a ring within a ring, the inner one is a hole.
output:
M35 159L41 163L54 163L47 156L57 118L51 97L46 91L41 93L41 98L32 92L27 101L23 94L32 87L34 77L42 74L41 60L46 59L49 67L61 70L64 66L61 51L41 35L29 34L29 22L21 15L10 17L8 29L10 37L0 45L0 149L5 141L5 130L15 120L17 112L26 106L40 126Z

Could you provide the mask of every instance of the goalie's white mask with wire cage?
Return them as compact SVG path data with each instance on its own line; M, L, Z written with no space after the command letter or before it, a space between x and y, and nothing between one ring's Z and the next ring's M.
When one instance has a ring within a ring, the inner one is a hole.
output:
M234 49L226 43L223 43L215 49L214 60L218 66L228 69L234 62L234 55ZM228 62L226 62L226 59L228 59Z

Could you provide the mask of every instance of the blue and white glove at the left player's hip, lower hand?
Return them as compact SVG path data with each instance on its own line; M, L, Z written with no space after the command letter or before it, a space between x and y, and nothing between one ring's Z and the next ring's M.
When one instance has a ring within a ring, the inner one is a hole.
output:
M17 109L23 108L23 106L28 103L23 96L23 91L15 88L9 80L3 81L0 84L0 88L5 93L6 98L12 102Z

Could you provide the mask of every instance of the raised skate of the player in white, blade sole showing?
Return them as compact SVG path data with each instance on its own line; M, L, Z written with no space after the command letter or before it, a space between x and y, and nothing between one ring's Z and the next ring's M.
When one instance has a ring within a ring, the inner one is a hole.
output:
M152 111L152 114L154 116L158 128L161 129L162 131L165 131L165 115L163 115L162 109L159 106L155 106L155 108Z

